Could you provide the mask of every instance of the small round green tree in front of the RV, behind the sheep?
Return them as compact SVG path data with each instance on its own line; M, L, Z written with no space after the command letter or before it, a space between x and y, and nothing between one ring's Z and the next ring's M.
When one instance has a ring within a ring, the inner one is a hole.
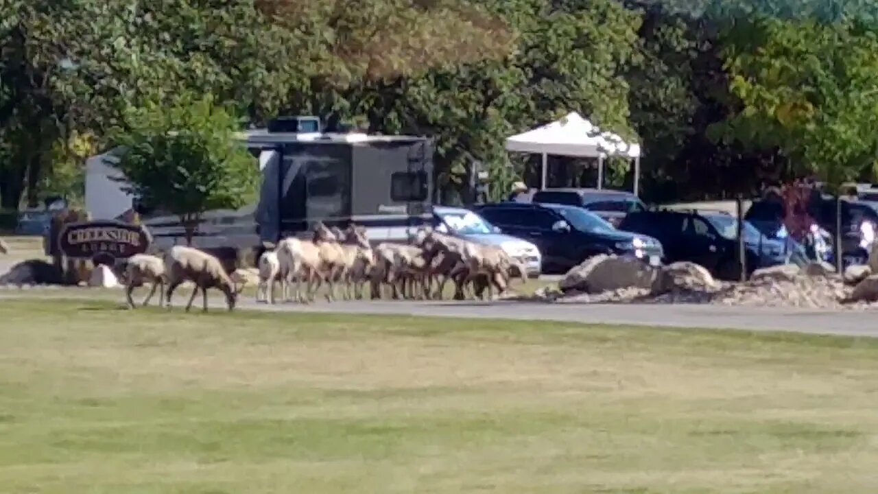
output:
M240 121L212 97L130 109L119 130L115 166L128 190L176 214L191 243L205 211L238 208L255 198L258 169L236 136Z

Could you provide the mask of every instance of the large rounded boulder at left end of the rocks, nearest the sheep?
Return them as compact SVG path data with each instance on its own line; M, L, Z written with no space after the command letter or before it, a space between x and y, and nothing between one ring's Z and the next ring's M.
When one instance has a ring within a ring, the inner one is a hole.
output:
M572 268L558 283L563 292L600 294L622 288L649 289L658 270L636 258L599 254Z

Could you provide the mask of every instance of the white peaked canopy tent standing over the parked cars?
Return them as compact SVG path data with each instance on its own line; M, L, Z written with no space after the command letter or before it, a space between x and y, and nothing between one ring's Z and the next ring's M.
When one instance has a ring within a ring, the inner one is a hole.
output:
M603 187L604 159L623 156L634 160L634 193L640 179L640 145L625 142L622 137L601 131L579 113L568 113L561 120L536 127L506 140L507 151L543 155L540 188L546 188L546 172L549 155L579 156L598 159L598 185Z

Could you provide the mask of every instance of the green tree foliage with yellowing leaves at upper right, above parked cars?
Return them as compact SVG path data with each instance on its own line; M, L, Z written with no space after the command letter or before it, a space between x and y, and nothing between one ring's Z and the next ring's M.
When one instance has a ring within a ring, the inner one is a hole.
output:
M759 18L726 37L740 110L720 129L777 147L797 174L831 185L872 175L878 157L878 32L858 21Z

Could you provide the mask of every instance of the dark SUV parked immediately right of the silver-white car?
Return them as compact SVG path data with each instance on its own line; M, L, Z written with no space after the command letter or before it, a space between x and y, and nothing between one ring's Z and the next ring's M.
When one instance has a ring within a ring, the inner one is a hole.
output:
M543 272L567 272L596 254L617 254L659 265L659 241L615 229L582 207L501 202L476 211L504 233L535 243L543 253Z

